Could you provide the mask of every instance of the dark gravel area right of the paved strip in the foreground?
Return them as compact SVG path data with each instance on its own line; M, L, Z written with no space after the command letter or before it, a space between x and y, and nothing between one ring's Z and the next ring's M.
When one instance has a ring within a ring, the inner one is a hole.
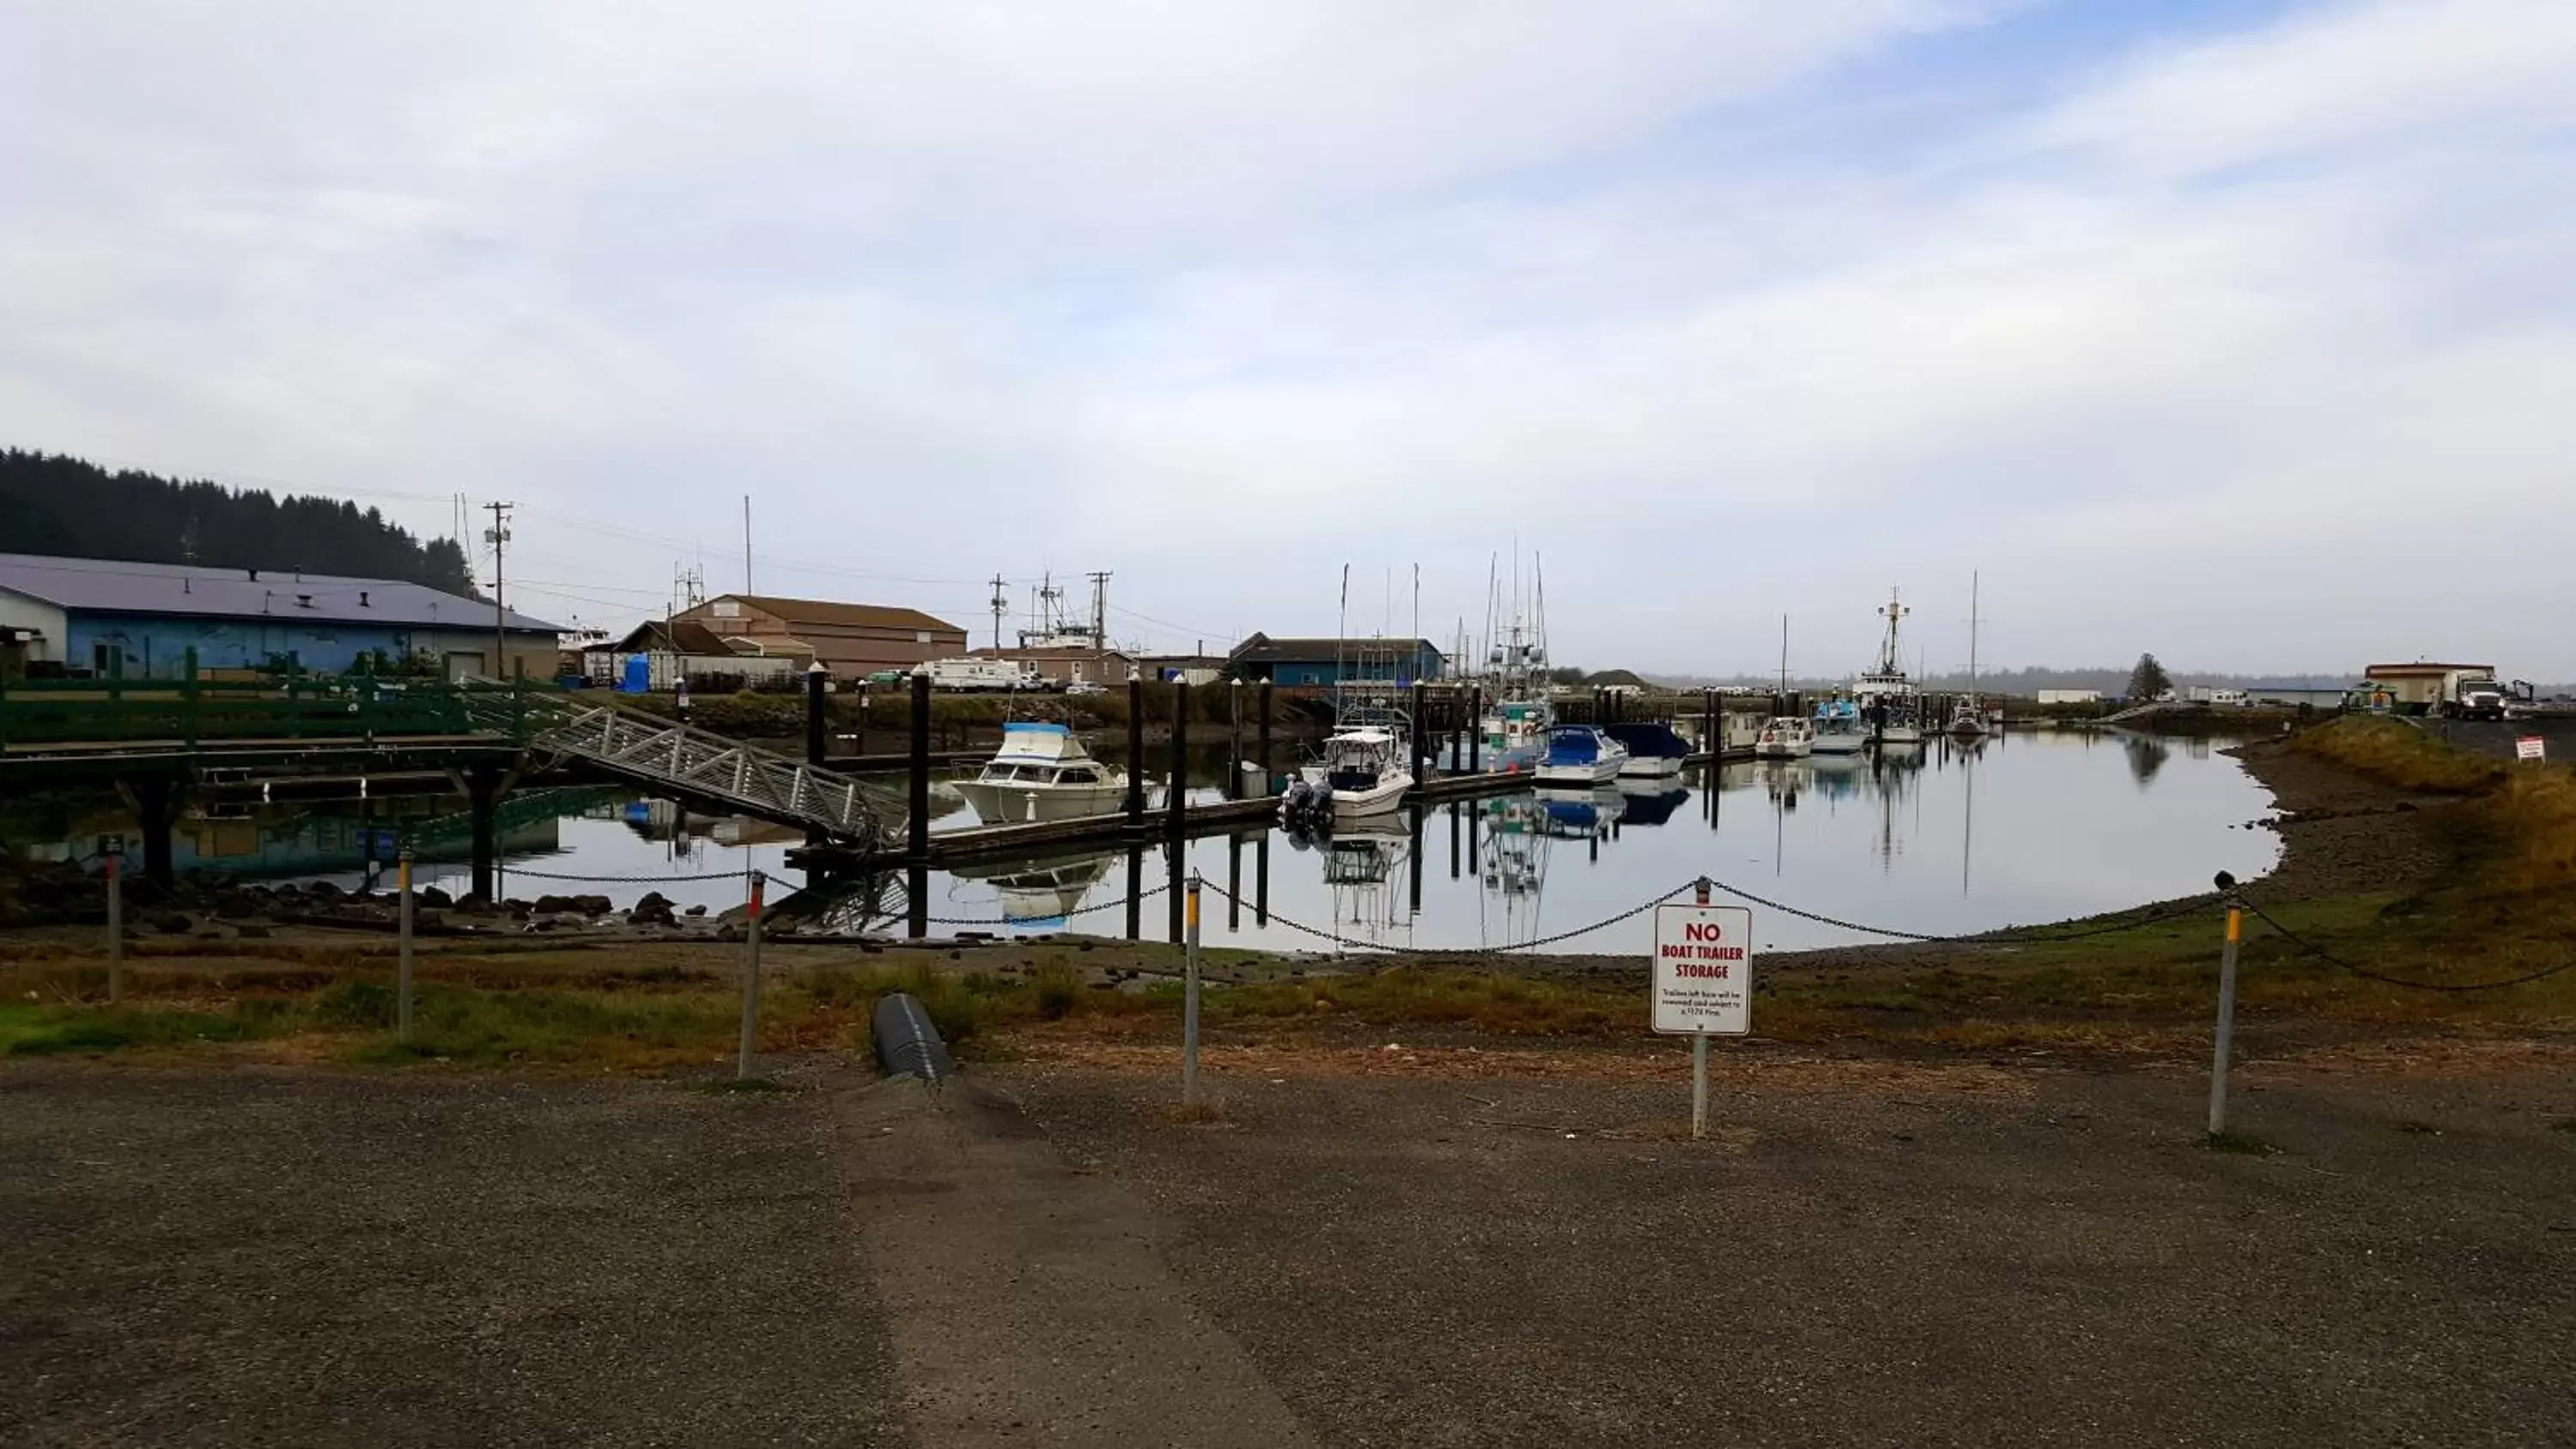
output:
M1007 1086L1324 1444L2576 1444L2566 1053L2249 1073L2280 1156L2200 1148L2184 1073L1896 1063L1721 1081L1692 1145L1672 1060L1283 1068L1226 1127L1162 1078Z

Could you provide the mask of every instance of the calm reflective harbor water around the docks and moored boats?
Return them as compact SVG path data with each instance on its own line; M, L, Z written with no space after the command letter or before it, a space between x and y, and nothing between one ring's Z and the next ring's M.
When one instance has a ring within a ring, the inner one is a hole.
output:
M2050 921L2182 896L2210 872L2272 867L2272 831L2241 829L2272 811L2244 770L2197 739L2027 734L1973 752L1927 746L1906 764L1754 762L1718 770L1716 798L1698 775L1662 793L1540 793L1435 806L1419 821L1386 824L1329 842L1280 831L1203 836L1177 870L1211 888L1236 883L1242 906L1208 893L1203 939L1278 950L1332 950L1285 921L1396 947L1512 945L1587 927L1643 898L1710 875L1777 901L1911 932L1976 932ZM1193 790L1198 793L1198 790ZM600 891L631 903L644 891L711 909L742 901L742 872L796 880L793 831L757 821L690 816L662 800L562 793L556 816L507 831L507 891ZM451 811L453 800L384 800L361 821L355 806L247 808L234 818L185 821L180 867L211 865L278 880L363 880L368 824L404 811ZM976 824L948 803L938 829ZM62 821L49 844L23 854L85 854L88 831ZM26 829L23 824L18 826ZM464 842L430 847L422 880L464 891ZM927 914L1005 934L1077 929L1123 934L1131 870L1141 888L1167 885L1162 847L981 862L925 872ZM551 875L626 875L577 885ZM721 875L719 880L680 880ZM1270 921L1260 924L1257 903ZM902 929L907 880L845 891L835 924ZM1754 911L1765 945L1850 945L1862 937ZM1146 939L1164 939L1167 901L1139 911ZM933 927L948 934L956 927ZM1569 952L1641 952L1646 921L1631 919L1564 942Z

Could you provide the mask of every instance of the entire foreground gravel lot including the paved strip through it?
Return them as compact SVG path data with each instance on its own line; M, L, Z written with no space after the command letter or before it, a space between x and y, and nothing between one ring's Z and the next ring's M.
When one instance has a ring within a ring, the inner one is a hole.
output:
M2563 1053L1685 1060L13 1063L0 1441L2576 1444Z

